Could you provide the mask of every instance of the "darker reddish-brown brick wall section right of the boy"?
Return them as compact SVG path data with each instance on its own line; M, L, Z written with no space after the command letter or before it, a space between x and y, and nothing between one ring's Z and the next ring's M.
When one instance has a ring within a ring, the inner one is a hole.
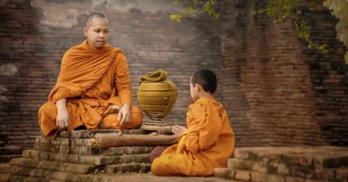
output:
M329 54L309 49L291 20L273 25L251 16L264 1L232 1L221 22L222 100L236 145L347 145L347 67L336 40L336 19L309 11L313 40Z

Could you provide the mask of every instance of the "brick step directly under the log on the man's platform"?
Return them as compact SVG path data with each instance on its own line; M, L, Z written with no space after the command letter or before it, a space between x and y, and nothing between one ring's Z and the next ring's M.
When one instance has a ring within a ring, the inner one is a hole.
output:
M86 140L86 139L77 139ZM79 143L83 143L79 141ZM155 146L124 146L111 147L107 149L93 148L90 145L49 145L44 143L35 143L34 149L42 152L51 153L71 153L79 155L121 155L121 154L137 154L137 153L151 153Z

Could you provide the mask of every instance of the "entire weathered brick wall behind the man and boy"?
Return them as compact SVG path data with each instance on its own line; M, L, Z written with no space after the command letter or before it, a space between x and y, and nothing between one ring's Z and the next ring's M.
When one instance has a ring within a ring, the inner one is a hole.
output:
M62 55L84 40L87 12L104 12L112 28L110 45L124 50L137 105L137 80L147 71L168 70L179 89L166 120L185 125L190 104L188 79L195 70L217 72L217 98L224 104L237 146L347 145L347 66L336 40L336 19L325 10L309 12L312 37L329 54L309 49L290 20L273 25L251 16L261 0L230 1L220 21L207 17L170 21L171 0L31 0L0 4L0 122L9 145L32 147L40 135L37 110L54 87ZM1 70L1 69L0 69Z

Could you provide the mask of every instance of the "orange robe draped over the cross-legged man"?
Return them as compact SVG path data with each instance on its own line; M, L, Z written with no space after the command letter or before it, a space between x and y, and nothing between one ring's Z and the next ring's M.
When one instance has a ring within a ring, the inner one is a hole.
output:
M132 103L132 91L126 57L118 48L105 45L91 49L87 40L71 47L62 58L61 72L55 87L48 95L48 103L38 111L38 123L45 136L57 133L55 103L67 98L70 126L87 129L98 128L103 120L108 128L137 128L143 121L139 108L131 106L131 122L120 125L118 113L107 114L112 104L120 108L123 103Z

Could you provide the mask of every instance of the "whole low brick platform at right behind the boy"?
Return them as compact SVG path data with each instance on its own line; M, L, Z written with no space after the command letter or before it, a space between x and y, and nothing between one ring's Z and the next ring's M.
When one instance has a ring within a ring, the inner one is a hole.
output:
M237 148L215 176L240 181L348 181L348 148L336 146Z

